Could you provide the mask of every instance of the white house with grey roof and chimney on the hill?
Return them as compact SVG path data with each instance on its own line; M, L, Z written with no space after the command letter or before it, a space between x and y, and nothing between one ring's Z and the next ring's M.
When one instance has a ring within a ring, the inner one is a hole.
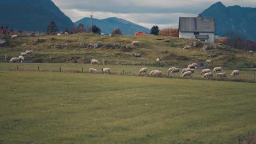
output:
M219 39L215 34L215 18L202 17L179 17L179 38L197 39L214 43Z

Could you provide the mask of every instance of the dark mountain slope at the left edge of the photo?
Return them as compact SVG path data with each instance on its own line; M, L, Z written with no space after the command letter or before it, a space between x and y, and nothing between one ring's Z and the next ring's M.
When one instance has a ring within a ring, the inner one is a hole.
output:
M71 29L74 23L51 0L1 1L0 26L26 31L46 31L55 21L59 31Z

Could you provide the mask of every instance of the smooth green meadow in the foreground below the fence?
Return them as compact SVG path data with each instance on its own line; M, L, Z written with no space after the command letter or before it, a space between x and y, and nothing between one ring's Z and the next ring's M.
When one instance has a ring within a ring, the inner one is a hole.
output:
M255 83L0 71L0 143L236 143Z

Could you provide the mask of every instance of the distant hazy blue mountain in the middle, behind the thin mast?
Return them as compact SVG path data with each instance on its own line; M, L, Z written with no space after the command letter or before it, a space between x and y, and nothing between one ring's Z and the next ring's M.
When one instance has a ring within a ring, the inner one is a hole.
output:
M74 22L75 25L79 25L83 23L85 27L90 27L91 25L91 18L84 17L83 19ZM105 34L109 34L113 32L114 28L119 28L124 35L133 35L134 31L150 33L150 29L146 27L139 26L135 23L130 21L126 21L124 19L118 19L117 17L109 17L107 19L99 20L99 19L92 19L92 25L96 25L97 27L101 28L101 32Z

